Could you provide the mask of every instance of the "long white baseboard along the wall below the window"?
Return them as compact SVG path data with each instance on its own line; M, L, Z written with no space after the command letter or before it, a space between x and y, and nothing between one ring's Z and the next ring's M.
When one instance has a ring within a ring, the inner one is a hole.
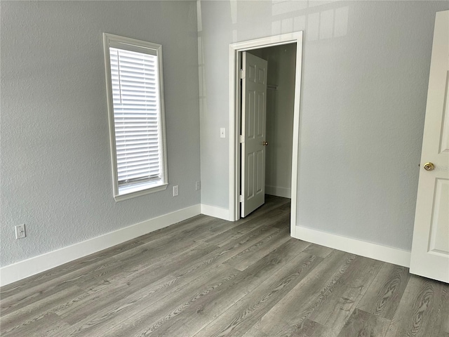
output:
M22 260L12 265L6 265L0 268L0 286L25 279L25 277L44 272L53 267L58 267L58 265L76 260L77 258L82 258L83 256L102 251L116 244L135 239L154 230L160 230L163 227L179 223L182 220L199 215L200 210L200 205L196 204L185 209L180 209L179 211L174 211L173 213L168 213L142 223L103 234L100 237L94 237L93 239L73 244L72 246L34 256L34 258Z

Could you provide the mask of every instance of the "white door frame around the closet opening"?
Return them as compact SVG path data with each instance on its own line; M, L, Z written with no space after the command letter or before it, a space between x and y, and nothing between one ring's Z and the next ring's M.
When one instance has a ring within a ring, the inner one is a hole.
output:
M239 90L239 65L241 52L250 51L282 44L296 44L296 76L295 98L293 105L293 153L292 153L292 178L291 178L291 216L290 235L295 236L296 211L297 211L297 173L300 145L300 95L302 73L302 32L274 35L262 39L229 44L229 220L240 218L239 184L240 184L240 141L239 130L241 126L240 116L240 90Z

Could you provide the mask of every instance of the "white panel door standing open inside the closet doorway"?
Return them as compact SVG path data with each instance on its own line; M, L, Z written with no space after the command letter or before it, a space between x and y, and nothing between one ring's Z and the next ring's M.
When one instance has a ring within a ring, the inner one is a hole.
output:
M241 217L265 202L267 61L243 52Z

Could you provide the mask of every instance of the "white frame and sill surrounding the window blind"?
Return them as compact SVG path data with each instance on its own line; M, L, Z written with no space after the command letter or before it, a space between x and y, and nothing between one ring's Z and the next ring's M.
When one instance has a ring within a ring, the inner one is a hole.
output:
M107 110L109 116L109 141L111 148L112 162L112 186L114 190L114 199L116 201L126 200L140 195L166 190L168 186L168 168L166 152L166 128L165 128L165 110L163 100L163 72L162 72L162 46L152 44L147 41L120 37L118 35L103 33L103 47L105 51L105 70L106 70L106 91L107 91ZM139 53L148 53L157 56L158 79L159 79L159 152L160 152L160 170L161 179L148 181L145 183L135 183L126 187L119 187L119 174L117 170L116 154L116 136L114 124L114 103L112 96L112 76L109 47L120 48L127 51L137 51Z

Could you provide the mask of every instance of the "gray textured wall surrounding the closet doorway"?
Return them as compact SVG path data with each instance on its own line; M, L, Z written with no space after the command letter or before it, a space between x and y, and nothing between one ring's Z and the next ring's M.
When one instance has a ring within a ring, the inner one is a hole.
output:
M297 225L410 250L447 1L201 1L201 201L228 207L229 44L304 31Z

